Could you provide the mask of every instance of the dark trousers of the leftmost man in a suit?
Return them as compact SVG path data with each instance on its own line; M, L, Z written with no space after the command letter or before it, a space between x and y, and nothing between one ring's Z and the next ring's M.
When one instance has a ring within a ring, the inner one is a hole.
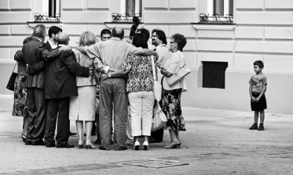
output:
M44 138L46 119L46 100L44 89L28 89L27 140L37 142Z

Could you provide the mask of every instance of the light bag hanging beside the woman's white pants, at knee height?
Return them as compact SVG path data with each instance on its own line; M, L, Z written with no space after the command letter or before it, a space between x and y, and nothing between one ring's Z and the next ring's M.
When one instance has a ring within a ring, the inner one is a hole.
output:
M157 101L153 106L153 119L151 123L151 132L160 130L160 128L163 128L167 123L167 117L165 116Z

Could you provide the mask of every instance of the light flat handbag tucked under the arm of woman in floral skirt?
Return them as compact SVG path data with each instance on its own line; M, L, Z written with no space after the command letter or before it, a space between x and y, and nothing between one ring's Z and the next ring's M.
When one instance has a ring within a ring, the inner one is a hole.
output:
M180 57L179 63L174 72L175 73L171 77L166 77L167 83L170 85L170 87L174 86L181 79L183 79L183 77L188 75L191 70L186 66L185 59L183 60Z

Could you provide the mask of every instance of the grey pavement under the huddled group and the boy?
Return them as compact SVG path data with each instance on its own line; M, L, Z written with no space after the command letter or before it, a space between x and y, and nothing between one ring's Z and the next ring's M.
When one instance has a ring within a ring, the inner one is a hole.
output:
M266 114L258 131L248 129L253 112L183 107L180 149L163 149L165 130L149 151L102 151L78 149L77 137L73 149L26 146L12 106L13 96L0 95L0 174L293 174L293 115Z

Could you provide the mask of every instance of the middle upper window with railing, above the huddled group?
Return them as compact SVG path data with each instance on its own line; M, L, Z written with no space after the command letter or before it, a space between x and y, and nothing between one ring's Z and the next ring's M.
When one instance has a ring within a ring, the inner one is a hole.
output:
M121 0L120 13L112 13L115 22L132 22L133 17L142 20L142 0Z

